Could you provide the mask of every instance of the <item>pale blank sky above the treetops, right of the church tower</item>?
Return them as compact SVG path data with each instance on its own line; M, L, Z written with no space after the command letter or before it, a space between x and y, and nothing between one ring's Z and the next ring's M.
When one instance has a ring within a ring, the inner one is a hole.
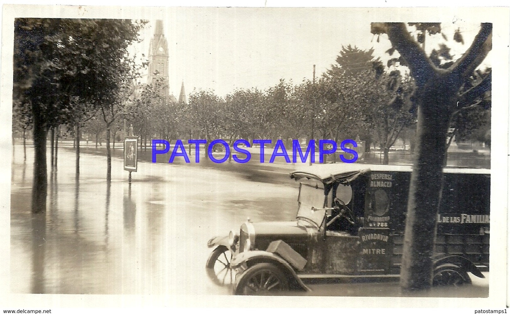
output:
M193 89L212 89L223 97L237 88L264 90L280 79L295 84L312 80L313 65L320 77L335 63L342 45L373 47L375 56L390 58L385 54L388 37L377 42L370 33L370 22L382 18L373 8L178 7L160 17L169 46L170 92L177 97L182 82L188 95ZM155 23L150 19L142 32L143 42L134 48L138 56L148 55ZM455 15L443 22L454 54L461 56L469 47L479 23ZM452 40L457 28L465 45ZM438 40L428 37L426 50L437 47Z

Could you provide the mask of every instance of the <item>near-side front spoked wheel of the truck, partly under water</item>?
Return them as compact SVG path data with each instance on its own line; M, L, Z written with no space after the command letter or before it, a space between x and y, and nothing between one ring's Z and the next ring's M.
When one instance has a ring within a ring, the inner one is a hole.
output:
M244 271L234 287L235 295L271 295L289 291L284 273L270 263L253 265Z

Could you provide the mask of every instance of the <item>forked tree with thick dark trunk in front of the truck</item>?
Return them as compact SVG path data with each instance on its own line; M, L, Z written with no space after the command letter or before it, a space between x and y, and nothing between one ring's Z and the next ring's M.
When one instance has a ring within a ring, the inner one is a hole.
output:
M371 32L388 34L392 46L405 60L415 79L417 147L405 219L400 284L404 290L427 289L432 283L432 254L443 187L446 134L451 115L457 110L458 93L464 90L473 71L492 49L492 24L481 23L466 53L445 69L433 64L404 23L372 23ZM476 98L489 88L483 82L477 87L463 93L471 93Z

